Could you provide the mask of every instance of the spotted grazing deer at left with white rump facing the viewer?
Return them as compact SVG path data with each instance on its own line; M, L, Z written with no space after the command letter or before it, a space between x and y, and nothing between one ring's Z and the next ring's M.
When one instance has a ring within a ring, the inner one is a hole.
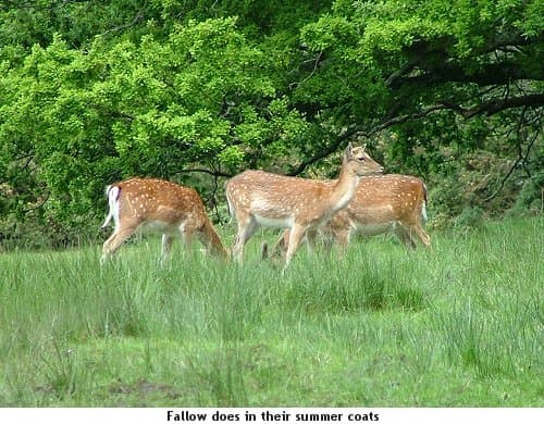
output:
M138 229L162 234L163 261L175 236L190 245L196 235L208 251L227 257L202 199L193 188L163 179L131 178L108 186L107 196L110 212L102 228L113 219L115 230L103 244L102 263Z

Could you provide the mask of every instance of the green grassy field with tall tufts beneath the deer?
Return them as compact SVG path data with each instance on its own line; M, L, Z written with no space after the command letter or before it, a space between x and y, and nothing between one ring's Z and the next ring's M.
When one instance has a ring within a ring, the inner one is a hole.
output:
M258 237L243 267L178 246L160 267L159 238L102 269L3 253L0 406L544 407L544 220L432 237L283 275Z

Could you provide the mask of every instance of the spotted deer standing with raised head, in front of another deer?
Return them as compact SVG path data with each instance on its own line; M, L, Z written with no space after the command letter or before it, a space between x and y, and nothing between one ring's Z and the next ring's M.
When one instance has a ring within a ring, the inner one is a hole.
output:
M288 266L304 237L313 237L319 226L349 203L359 178L382 172L383 166L367 153L366 147L349 145L334 184L263 171L236 175L226 183L228 210L238 223L233 257L242 263L244 246L259 225L289 228L285 257Z

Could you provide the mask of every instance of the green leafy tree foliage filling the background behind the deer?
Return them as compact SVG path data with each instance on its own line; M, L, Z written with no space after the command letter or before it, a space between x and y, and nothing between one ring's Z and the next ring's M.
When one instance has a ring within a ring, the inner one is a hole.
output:
M247 167L334 176L349 139L421 175L437 223L542 210L542 0L287 3L4 1L2 237L70 241L132 175L209 205Z

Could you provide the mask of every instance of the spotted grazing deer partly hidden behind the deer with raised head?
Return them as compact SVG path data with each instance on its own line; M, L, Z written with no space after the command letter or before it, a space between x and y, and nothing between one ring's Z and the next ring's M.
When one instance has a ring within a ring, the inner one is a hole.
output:
M334 184L334 182L330 182ZM354 234L376 236L393 233L408 248L416 248L416 237L425 246L431 238L423 229L426 221L426 187L410 175L373 175L361 178L347 205L320 230L332 236L338 246L347 247ZM285 230L271 249L271 254L285 251L289 239ZM313 240L308 239L308 242ZM267 257L263 250L263 258Z

